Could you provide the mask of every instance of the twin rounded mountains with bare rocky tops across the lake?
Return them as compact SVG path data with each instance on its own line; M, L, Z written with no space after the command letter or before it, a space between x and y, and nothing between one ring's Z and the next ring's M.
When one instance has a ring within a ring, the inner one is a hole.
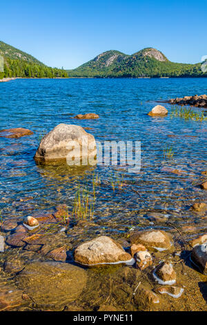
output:
M109 50L68 71L69 77L207 77L201 64L170 62L155 48L144 48L132 55Z

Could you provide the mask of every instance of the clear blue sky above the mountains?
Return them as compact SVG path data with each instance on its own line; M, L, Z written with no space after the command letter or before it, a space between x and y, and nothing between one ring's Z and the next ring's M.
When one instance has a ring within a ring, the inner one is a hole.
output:
M48 66L76 68L106 50L149 46L174 62L207 55L206 0L8 0L0 10L0 40Z

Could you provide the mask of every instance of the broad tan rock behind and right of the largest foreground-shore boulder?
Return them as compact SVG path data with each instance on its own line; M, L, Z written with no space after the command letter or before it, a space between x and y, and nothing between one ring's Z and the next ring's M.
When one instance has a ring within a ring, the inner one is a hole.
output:
M146 232L136 232L130 239L132 244L141 243L148 250L170 250L172 247L170 235L163 230L150 230Z

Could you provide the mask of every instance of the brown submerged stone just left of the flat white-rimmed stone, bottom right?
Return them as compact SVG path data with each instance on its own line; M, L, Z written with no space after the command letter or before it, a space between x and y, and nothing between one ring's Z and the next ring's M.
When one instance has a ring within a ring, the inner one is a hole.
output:
M159 304L159 298L152 290L139 286L134 297L135 303L140 306L149 306L151 304Z

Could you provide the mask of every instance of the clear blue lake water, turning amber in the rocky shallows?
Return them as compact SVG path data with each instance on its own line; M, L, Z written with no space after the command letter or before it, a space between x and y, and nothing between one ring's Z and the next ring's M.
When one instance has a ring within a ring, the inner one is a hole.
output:
M101 271L88 269L86 289L69 310L97 310L101 304L112 304L117 310L206 310L206 278L201 278L192 268L186 243L206 232L206 214L193 212L190 207L195 200L206 201L207 198L207 192L196 185L207 177L201 174L207 170L207 122L170 118L170 104L164 104L169 110L165 118L147 115L157 102L204 93L207 93L204 78L15 80L0 84L0 129L24 127L34 132L32 136L19 139L0 138L3 221L22 223L28 215L51 214L61 204L67 205L70 219L63 232L59 232L63 225L56 225L55 233L44 236L46 230L41 228L42 251L39 251L41 243L24 248L6 245L6 252L0 254L0 268L5 270L5 261L12 262L8 272L16 266L21 270L32 261L48 261L48 252L63 245L71 257L79 243L99 234L111 236L127 248L133 230L166 230L173 236L175 250L186 250L185 263L179 263L179 254L172 257L168 252L156 252L152 255L152 268L141 272L128 266L112 266L112 270ZM72 119L79 113L97 113L100 118ZM129 173L123 166L71 170L66 165L36 165L33 157L41 138L59 123L90 128L88 132L99 141L141 141L139 174ZM171 160L164 158L167 146L174 151ZM72 215L75 195L77 191L80 196L83 191L86 194L86 189L91 209L86 217L89 222L79 223ZM12 237L12 232L1 234ZM168 296L152 308L142 306L139 295L135 296L139 281L150 290L155 288L152 270L166 259L176 259L173 265L178 286L185 288L184 298ZM22 288L18 279L18 274L14 277L1 272L1 291L10 290L15 294L16 285ZM41 301L39 288L33 287L32 281L27 284L26 293L34 295L32 301L36 301L36 297L37 302ZM43 281L48 279L43 278ZM55 289L50 294L53 297ZM29 306L30 301L26 299L28 306L17 307L17 310L63 310L63 301L59 295L55 297L52 305L47 304L46 299L42 305Z

